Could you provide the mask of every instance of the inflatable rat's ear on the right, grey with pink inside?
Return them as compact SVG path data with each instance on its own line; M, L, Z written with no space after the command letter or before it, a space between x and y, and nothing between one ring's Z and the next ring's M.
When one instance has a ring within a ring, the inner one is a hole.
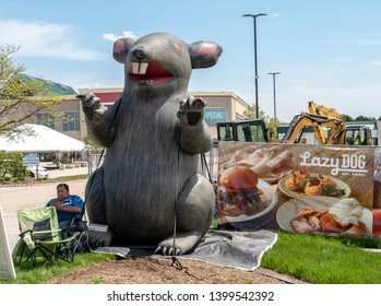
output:
M190 44L189 54L191 57L192 69L214 66L222 52L223 48L215 43L197 42Z

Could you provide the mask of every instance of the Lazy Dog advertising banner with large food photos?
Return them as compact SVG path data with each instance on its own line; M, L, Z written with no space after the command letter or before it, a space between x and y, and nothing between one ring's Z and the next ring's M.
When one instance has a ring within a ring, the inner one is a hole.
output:
M219 142L218 216L240 229L380 235L380 148Z

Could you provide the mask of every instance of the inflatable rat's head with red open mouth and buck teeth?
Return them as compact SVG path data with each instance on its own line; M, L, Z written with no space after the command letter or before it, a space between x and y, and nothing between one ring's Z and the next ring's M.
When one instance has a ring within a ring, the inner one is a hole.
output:
M114 58L124 64L124 91L144 97L187 92L192 69L214 66L222 51L217 44L189 45L167 33L138 40L120 38L114 44Z

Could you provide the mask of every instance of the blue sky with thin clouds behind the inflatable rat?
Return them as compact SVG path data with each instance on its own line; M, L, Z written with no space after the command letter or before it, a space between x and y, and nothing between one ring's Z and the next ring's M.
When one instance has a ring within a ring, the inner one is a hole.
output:
M224 51L217 64L194 70L190 91L233 91L254 103L253 20L257 19L259 106L283 121L309 101L340 113L381 116L379 0L2 0L0 45L21 47L26 73L74 90L123 85L112 58L120 36L168 32Z

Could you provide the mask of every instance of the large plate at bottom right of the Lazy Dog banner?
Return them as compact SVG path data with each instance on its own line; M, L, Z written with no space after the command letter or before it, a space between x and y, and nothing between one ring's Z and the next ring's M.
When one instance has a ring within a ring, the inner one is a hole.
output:
M355 198L300 197L283 203L276 212L282 229L333 236L371 236L372 212Z

